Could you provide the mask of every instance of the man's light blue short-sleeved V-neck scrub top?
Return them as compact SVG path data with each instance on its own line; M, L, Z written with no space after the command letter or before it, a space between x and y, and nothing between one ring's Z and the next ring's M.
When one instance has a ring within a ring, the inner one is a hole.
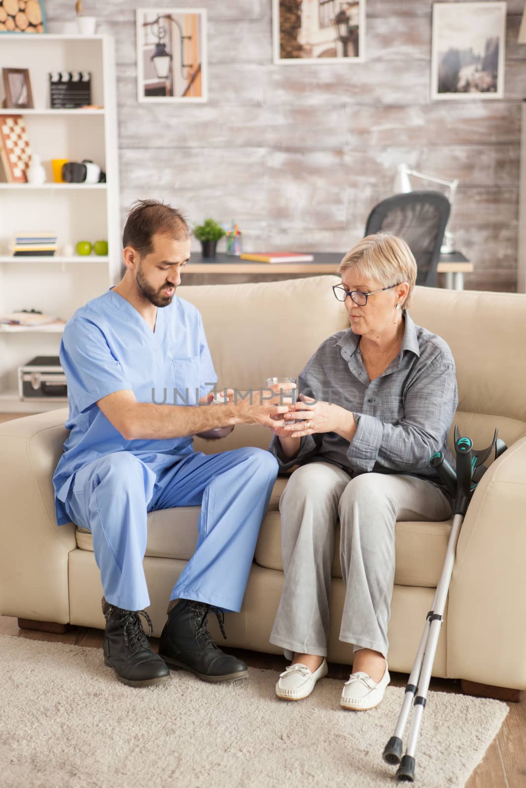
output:
M150 466L193 452L192 436L125 440L96 402L131 390L137 402L197 405L217 376L199 310L175 296L158 307L155 331L112 288L66 323L60 362L68 383L69 418L64 454L53 477L59 526L69 522L62 504L76 471L112 452L132 452Z

